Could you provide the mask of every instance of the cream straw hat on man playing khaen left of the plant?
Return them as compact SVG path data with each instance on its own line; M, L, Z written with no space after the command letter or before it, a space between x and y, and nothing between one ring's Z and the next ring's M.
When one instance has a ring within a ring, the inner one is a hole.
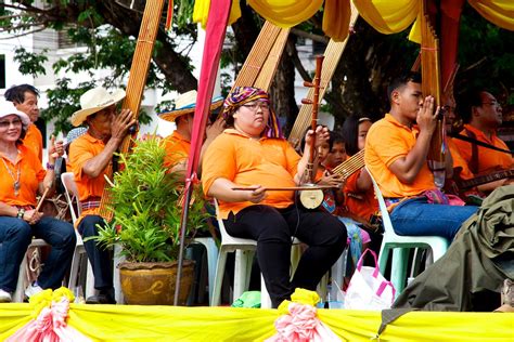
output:
M72 124L75 127L80 126L91 114L114 105L124 98L125 91L123 89L118 89L113 93L110 93L102 87L90 89L80 96L80 107L82 109L77 110L72 115Z

